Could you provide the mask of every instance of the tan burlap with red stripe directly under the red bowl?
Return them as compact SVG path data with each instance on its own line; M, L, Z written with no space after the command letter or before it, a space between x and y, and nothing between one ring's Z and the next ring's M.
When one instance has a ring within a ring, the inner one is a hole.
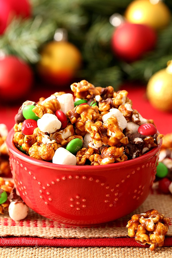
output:
M155 208L170 218L167 236L172 236L172 195L160 194L156 184L146 201L132 214L121 219L95 227L80 228L59 224L30 210L25 220L14 222L9 215L0 217L1 236L38 236L42 238L114 238L127 236L126 224L133 214L143 213Z

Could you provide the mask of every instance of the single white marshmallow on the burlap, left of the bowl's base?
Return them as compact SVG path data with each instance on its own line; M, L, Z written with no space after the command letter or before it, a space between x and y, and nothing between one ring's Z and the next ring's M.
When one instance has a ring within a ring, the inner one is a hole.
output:
M23 202L11 202L8 207L9 216L14 221L26 218L28 211L28 206Z

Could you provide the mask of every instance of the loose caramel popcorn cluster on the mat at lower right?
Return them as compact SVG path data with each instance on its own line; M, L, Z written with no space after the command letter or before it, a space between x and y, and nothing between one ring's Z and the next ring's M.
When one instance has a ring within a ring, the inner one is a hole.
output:
M148 210L141 214L135 214L128 221L128 236L134 237L141 245L150 245L151 251L164 244L164 238L169 228L169 218L157 210Z

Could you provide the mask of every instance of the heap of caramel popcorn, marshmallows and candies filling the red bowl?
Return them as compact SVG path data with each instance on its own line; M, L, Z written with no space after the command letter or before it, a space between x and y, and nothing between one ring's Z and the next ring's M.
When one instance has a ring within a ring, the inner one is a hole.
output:
M13 141L35 159L65 165L105 165L134 159L160 143L153 120L132 108L128 92L82 80L73 94L25 101L15 116Z

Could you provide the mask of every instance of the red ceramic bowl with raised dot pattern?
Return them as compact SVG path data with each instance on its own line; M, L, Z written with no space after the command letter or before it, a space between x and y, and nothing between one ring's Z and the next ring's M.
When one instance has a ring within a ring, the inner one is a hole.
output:
M144 202L155 179L160 145L121 163L65 166L21 153L13 134L11 129L6 143L21 198L35 212L61 223L89 226L121 218Z

